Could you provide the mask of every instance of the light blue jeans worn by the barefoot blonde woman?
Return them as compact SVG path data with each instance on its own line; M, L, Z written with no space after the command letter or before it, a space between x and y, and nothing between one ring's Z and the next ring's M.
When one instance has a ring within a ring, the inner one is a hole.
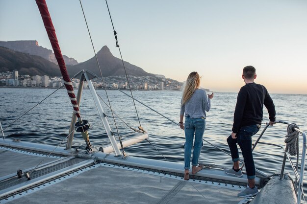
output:
M193 138L195 133L194 150L192 165L197 166L198 159L203 146L203 136L205 132L205 118L190 118L185 117L184 134L184 169L190 169L190 160L193 147Z

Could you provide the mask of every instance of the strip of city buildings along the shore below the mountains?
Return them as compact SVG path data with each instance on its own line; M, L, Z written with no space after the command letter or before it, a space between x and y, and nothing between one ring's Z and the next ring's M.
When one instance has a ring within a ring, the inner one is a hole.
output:
M180 91L182 83L173 79L166 79L165 77L153 76L128 76L129 83L126 76L108 76L104 77L104 82L100 79L94 78L92 80L96 89L120 89L120 90L177 90ZM72 79L74 88L79 87L79 79ZM47 75L19 75L18 70L13 72L6 71L0 73L1 87L36 87L36 88L59 88L64 85L63 78ZM84 88L87 88L85 83Z

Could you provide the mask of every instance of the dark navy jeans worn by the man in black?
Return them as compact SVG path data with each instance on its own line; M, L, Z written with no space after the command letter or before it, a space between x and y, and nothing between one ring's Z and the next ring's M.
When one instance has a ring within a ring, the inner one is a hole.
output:
M228 146L231 152L232 161L238 161L239 151L236 143L241 148L242 156L244 158L247 179L255 179L256 170L252 153L252 136L259 131L256 125L241 127L236 134L236 139L232 139L231 135L227 138Z

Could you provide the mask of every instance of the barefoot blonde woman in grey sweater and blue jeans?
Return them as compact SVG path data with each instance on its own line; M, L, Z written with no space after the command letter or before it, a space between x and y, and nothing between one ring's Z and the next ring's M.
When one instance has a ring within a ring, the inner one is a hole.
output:
M180 109L180 128L184 129L184 180L189 180L190 159L192 154L193 138L195 133L194 151L192 158L192 174L202 170L203 166L198 164L198 159L203 146L203 135L205 132L206 113L210 110L210 99L212 94L199 89L200 76L196 71L189 74L182 94ZM185 116L185 127L183 126L183 115Z

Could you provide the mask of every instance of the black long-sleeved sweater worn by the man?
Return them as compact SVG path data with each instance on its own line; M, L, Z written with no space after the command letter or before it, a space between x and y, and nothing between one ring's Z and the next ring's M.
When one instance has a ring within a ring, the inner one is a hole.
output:
M237 133L244 126L261 124L263 105L268 110L270 121L274 122L275 105L266 88L256 83L241 87L235 106L232 132Z

